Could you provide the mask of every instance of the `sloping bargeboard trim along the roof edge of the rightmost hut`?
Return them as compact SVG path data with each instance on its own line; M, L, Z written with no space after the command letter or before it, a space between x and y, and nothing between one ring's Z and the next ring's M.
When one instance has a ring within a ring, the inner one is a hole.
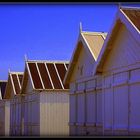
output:
M136 28L136 26L132 23L132 21L127 17L127 15L122 11L122 9L140 9L136 7L119 7L118 11L116 13L116 17L113 21L113 24L111 26L111 29L106 37L106 40L103 44L103 47L101 49L101 52L99 54L99 57L95 63L95 67L93 69L93 75L95 75L97 72L101 72L100 66L104 63L104 58L109 52L111 48L109 48L109 44L112 43L113 38L115 38L115 33L117 32L117 29L120 27L121 24L124 24L126 28L135 36L135 39L138 43L140 43L140 31Z

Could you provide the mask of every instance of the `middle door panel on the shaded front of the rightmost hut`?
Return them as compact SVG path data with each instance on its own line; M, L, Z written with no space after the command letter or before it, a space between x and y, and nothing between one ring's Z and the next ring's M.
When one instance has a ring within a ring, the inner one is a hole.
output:
M128 73L115 74L113 80L113 131L125 132L128 129Z

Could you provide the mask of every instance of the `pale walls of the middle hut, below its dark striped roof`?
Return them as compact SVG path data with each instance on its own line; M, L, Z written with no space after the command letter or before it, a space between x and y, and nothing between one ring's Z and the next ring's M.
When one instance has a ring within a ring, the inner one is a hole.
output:
M27 82L23 135L69 135L69 92L36 91Z

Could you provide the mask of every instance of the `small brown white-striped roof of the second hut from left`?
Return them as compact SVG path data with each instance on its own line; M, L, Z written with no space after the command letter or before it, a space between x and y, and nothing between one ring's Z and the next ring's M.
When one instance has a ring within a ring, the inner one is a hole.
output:
M8 82L6 85L6 90L4 98L11 98L10 92L13 90L14 95L18 95L21 92L23 72L9 72Z

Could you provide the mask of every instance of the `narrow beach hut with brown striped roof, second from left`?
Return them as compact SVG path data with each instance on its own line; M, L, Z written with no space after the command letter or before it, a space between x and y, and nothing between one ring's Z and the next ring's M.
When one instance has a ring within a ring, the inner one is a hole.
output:
M10 72L4 94L4 99L10 102L10 135L19 136L22 133L21 115L22 98L20 95L23 72Z

